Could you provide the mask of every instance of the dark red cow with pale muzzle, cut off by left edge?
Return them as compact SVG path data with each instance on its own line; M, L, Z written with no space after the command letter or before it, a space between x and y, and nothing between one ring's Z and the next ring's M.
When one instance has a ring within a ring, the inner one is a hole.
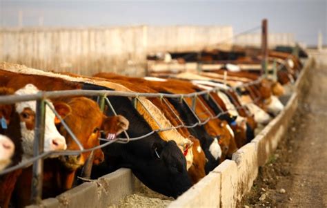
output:
M13 93L14 91L11 88L0 88L0 95L12 95ZM0 117L0 155L2 157L5 154L7 157L4 161L1 158L1 165L12 167L21 162L23 155L21 131L19 131L21 128L20 118L17 111L15 111L14 104L0 104ZM0 176L0 207L9 207L14 185L20 174L21 169L16 169Z

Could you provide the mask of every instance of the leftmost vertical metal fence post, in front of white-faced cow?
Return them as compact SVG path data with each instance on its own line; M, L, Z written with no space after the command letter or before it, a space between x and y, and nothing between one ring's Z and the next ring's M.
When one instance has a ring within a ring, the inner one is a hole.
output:
M37 111L35 120L35 135L33 144L34 157L43 153L44 149L44 131L46 120L46 103L44 100L37 100ZM32 169L32 191L31 191L31 204L39 204L42 200L42 180L43 180L43 158L33 162Z

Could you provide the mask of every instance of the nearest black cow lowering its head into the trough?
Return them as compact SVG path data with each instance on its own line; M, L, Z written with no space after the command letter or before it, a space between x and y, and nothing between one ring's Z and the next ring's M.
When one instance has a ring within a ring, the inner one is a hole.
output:
M83 84L83 89L112 90L92 84ZM108 99L115 111L130 122L127 132L131 138L152 131L128 97L109 96ZM111 112L107 111L106 114L110 115ZM147 187L166 196L177 198L192 186L186 170L186 158L176 142L161 140L156 132L127 144L110 144L103 148L103 153L105 162L93 168L92 178L126 167L132 169L135 176Z

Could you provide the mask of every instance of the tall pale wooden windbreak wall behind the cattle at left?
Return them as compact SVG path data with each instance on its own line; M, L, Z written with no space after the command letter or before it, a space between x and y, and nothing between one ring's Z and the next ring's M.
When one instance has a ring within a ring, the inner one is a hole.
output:
M228 37L230 26L0 28L0 61L82 75L141 76L147 53L199 50Z

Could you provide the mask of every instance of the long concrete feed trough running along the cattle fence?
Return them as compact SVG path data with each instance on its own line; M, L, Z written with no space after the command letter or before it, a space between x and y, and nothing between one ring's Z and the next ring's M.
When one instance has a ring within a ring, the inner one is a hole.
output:
M213 207L234 207L244 193L247 193L252 187L252 181L257 176L258 165L264 165L270 153L273 153L277 142L287 131L293 113L297 114L298 99L302 95L306 95L301 90L306 87L304 83L308 82L306 80L308 74L313 73L311 63L311 60L306 63L299 82L297 82L295 93L288 100L284 111L270 122L252 142L239 149L233 155L233 160L226 160L220 164L212 173L172 203L170 203L172 198L145 190L130 169L119 169L99 180L85 182L62 193L57 198L43 200L39 206L108 207L109 204L110 207L126 207L129 203L134 207L201 207L206 206L207 203L214 205ZM250 157L247 158L247 155ZM30 207L39 206L32 205Z

